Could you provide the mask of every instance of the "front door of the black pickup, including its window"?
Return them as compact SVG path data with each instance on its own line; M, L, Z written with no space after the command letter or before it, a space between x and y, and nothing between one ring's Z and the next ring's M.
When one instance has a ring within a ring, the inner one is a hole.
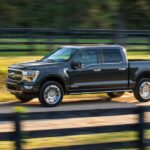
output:
M91 90L98 88L99 71L101 63L98 59L97 49L81 49L72 61L80 61L82 67L68 70L70 90Z

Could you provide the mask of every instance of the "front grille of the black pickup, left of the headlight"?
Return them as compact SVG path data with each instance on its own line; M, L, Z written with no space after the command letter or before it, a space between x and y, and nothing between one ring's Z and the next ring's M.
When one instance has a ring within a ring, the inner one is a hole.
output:
M22 80L22 72L20 70L8 70L8 79L14 81L21 81Z

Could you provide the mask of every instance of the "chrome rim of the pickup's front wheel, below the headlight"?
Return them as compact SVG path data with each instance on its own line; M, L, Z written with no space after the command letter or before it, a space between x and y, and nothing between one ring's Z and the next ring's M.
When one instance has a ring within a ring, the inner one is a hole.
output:
M48 104L56 104L61 98L61 91L57 85L49 85L44 91L44 99Z

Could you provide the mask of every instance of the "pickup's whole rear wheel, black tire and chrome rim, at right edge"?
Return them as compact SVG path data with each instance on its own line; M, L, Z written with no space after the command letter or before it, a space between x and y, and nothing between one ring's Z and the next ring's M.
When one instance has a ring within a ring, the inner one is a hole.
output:
M150 79L143 78L137 83L134 96L139 102L150 101Z

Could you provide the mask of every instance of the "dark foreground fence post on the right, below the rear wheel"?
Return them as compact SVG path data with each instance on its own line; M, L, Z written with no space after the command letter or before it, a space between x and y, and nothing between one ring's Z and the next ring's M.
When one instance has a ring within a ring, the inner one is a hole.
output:
M144 150L144 108L138 107L138 117L139 117L139 149Z

